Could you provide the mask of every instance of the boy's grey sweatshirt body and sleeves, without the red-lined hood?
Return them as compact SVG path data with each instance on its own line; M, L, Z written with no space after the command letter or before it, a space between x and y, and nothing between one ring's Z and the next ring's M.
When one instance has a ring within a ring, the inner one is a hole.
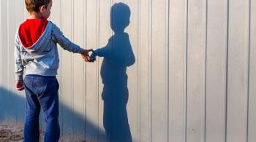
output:
M31 47L24 48L19 37L19 28L15 35L15 79L23 80L26 74L56 76L59 68L57 43L69 52L81 53L83 49L67 39L60 29L48 21L45 31Z

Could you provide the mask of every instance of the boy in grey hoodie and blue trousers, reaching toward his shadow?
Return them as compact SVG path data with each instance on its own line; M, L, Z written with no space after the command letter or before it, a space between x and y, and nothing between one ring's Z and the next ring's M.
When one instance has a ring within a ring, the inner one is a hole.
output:
M52 0L25 0L30 18L15 35L15 88L26 92L24 142L39 141L39 112L45 114L45 142L59 141L59 84L56 79L59 55L64 50L80 53L89 61L88 52L67 39L50 21ZM23 81L23 69L26 77Z

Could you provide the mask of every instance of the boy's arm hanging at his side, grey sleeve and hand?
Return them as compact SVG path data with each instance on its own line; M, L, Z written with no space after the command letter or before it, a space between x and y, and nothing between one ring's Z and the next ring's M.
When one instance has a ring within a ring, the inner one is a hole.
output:
M22 91L24 90L24 86L23 86L24 67L22 64L21 56L20 56L20 42L17 37L15 37L14 57L15 57L15 89Z

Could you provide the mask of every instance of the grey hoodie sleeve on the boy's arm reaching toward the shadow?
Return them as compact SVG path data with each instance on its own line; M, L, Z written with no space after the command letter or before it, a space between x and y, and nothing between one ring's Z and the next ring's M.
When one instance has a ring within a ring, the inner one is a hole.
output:
M55 24L53 24L53 40L58 43L64 50L74 53L83 52L83 48L67 39L67 37L63 35L61 30Z

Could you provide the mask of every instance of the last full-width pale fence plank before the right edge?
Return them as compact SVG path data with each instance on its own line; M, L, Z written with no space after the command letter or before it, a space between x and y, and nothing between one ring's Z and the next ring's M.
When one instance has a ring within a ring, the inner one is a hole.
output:
M249 0L229 2L227 142L246 142Z

